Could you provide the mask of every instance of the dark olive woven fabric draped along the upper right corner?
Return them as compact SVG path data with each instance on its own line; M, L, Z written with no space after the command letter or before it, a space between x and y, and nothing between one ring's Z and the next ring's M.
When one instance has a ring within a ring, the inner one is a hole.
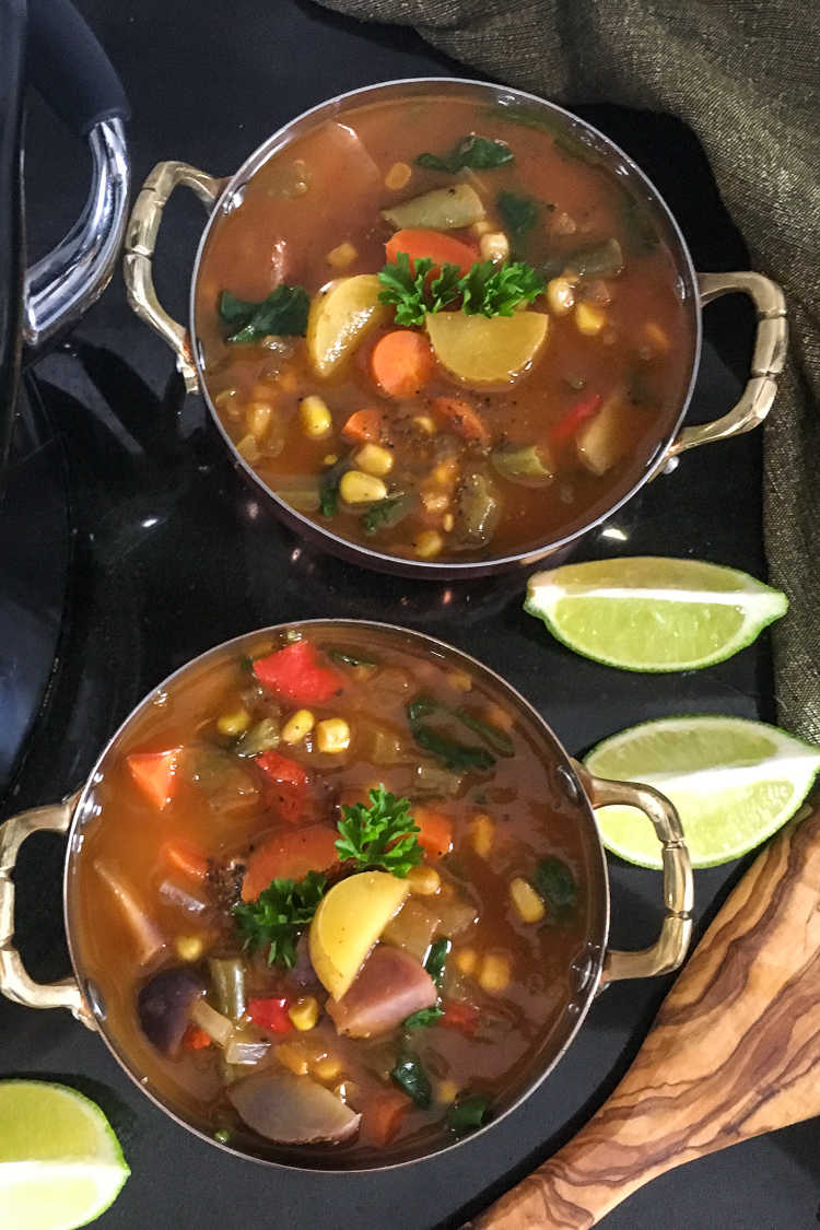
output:
M669 112L697 134L790 343L766 424L779 720L820 740L820 7L816 0L323 0L414 26L494 80L568 105ZM735 515L741 517L738 509ZM729 561L727 561L729 562Z

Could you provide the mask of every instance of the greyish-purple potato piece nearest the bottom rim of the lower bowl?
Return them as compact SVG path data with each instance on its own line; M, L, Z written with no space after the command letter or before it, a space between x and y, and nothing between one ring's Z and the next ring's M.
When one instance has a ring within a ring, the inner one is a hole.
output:
M355 1114L310 1076L266 1068L229 1086L241 1119L268 1140L283 1145L342 1144L359 1130Z

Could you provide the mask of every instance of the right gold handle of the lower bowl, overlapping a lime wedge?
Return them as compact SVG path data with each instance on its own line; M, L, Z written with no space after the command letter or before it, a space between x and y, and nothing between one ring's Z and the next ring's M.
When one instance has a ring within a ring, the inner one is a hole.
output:
M610 803L637 807L652 820L661 845L666 913L660 935L649 948L642 948L639 952L609 948L604 958L601 985L620 982L622 978L653 978L655 974L669 974L682 966L692 938L691 911L695 903L692 863L684 841L680 817L672 803L652 786L595 777L578 763L574 763L574 769L593 807L606 807Z

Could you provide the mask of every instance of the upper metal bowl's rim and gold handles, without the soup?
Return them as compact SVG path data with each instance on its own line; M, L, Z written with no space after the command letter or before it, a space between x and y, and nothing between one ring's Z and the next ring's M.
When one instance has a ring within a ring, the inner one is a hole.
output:
M445 97L467 98L493 107L524 108L538 117L552 130L558 127L566 139L575 148L590 151L590 156L606 164L609 170L620 177L628 188L638 208L643 208L653 225L666 242L675 264L677 290L685 314L688 316L686 371L688 379L681 384L684 390L680 405L671 407L671 413L663 416L658 423L656 439L652 440L648 459L643 467L626 472L610 493L590 509L579 515L561 531L542 541L530 542L516 554L492 555L492 545L484 558L471 558L463 562L435 560L408 560L397 555L373 550L369 546L348 541L331 529L317 525L277 494L263 478L257 475L240 455L235 444L223 427L211 397L208 392L204 373L203 347L197 336L194 305L200 277L203 253L214 223L225 213L231 212L242 199L243 186L256 171L273 155L289 145L323 121L332 119L342 109L350 106L363 106L393 98L412 101L423 95L435 93ZM152 280L152 257L165 204L173 189L183 184L191 188L208 209L208 223L202 234L197 258L191 279L189 327L173 321L161 308ZM786 353L784 301L781 289L759 273L696 273L684 236L671 212L645 175L612 141L590 124L572 116L553 103L545 102L534 95L507 86L488 85L481 81L468 81L447 77L417 77L404 81L386 81L381 85L366 86L339 95L317 107L291 119L268 138L239 171L226 178L216 178L205 171L197 170L186 162L160 162L154 167L143 186L134 205L125 239L124 276L128 296L139 316L155 328L168 343L177 358L177 367L189 392L202 392L216 428L230 449L235 464L248 480L261 488L273 502L282 519L300 535L316 541L320 546L336 555L366 567L403 576L428 578L476 577L500 572L514 566L530 566L547 556L567 554L568 547L594 525L610 517L625 501L629 499L645 482L666 467L674 467L679 454L686 449L736 435L755 427L768 413L775 399L775 378L783 368ZM744 394L728 413L713 422L697 427L682 427L692 389L697 376L701 353L701 314L704 304L719 295L731 292L747 294L757 314L757 339L749 383Z

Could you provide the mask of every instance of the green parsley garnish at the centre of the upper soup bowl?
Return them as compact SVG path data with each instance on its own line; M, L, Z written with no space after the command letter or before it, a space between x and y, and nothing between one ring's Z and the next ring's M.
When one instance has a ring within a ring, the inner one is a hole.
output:
M429 257L413 262L397 252L379 274L384 290L379 298L396 309L397 325L423 325L428 312L441 311L457 299L468 315L511 316L543 293L543 279L524 261L476 261L461 276L457 264L445 262L428 282L433 268Z

